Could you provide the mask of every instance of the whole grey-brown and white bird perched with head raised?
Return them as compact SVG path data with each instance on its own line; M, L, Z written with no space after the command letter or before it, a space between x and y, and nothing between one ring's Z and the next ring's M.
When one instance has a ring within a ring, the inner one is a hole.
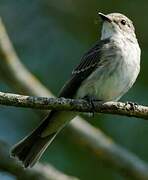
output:
M101 38L82 56L58 97L89 102L118 101L140 72L141 50L133 22L121 13L98 13ZM11 148L10 154L32 167L76 112L52 110L41 124Z

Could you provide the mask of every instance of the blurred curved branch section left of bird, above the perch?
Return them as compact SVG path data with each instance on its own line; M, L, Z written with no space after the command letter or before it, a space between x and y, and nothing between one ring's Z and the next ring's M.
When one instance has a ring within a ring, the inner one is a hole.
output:
M49 91L20 62L0 18L0 75L19 92L46 95ZM30 86L31 84L31 86ZM33 93L32 93L33 92Z

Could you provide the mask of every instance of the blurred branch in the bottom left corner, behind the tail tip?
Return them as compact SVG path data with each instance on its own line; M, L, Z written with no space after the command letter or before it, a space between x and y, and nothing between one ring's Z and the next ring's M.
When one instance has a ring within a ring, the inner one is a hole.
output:
M0 141L0 169L17 177L18 180L78 180L56 170L51 165L38 163L34 168L26 170L15 159L9 156L9 147Z

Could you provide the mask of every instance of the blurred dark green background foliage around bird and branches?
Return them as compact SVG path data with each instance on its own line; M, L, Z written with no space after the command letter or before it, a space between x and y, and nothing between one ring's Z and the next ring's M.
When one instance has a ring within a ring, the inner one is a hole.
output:
M0 0L0 14L19 57L56 94L82 54L99 38L98 11L121 12L130 17L142 48L141 74L122 100L139 104L148 104L147 7L146 0ZM3 82L0 87L13 92ZM26 135L40 120L26 109L1 106L0 113L0 138L11 144ZM147 122L111 115L89 118L89 122L148 161ZM103 166L87 149L79 147L70 135L66 137L63 132L48 148L43 161L81 180L122 179L111 167ZM7 178L2 176L1 179Z

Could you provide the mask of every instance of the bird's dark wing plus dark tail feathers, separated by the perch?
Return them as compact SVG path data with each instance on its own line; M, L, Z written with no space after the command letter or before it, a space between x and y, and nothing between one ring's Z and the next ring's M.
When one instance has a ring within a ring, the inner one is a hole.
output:
M72 98L75 95L81 82L97 67L102 46L108 42L109 39L100 41L82 57L80 64L73 70L71 79L61 90L59 97ZM37 129L12 148L11 155L22 161L24 167L32 167L58 133L61 125L55 129L55 132L51 132L46 137L41 137L45 128L50 126L50 123L52 124L52 116L56 113L56 111L51 111Z

